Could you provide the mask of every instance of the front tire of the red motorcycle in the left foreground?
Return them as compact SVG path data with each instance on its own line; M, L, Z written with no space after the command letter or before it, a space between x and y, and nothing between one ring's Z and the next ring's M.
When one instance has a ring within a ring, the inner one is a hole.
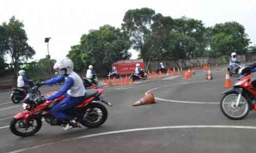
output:
M36 121L36 126L35 126L35 129L33 129L31 132L20 132L20 131L18 131L17 130L17 128L16 128L16 123L18 122L18 121L22 121L22 120L24 120L23 118L13 118L12 119L12 121L11 121L11 123L10 123L10 130L11 130L11 132L14 134L14 135L16 135L16 136L19 136L19 137L29 137L29 136L32 136L32 135L34 135L35 133L37 133L40 129L41 129L41 126L42 126L42 121L41 121L41 118L37 118L37 119L35 119L35 118L31 118L31 119L33 119L33 121ZM31 120L30 119L30 120ZM30 126L31 127L31 126ZM30 128L30 127L28 127L28 128ZM27 129L28 130L28 129Z

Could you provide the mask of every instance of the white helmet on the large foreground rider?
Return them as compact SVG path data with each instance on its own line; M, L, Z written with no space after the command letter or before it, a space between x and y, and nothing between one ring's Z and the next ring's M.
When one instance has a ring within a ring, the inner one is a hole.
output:
M70 74L73 72L74 63L70 58L65 58L54 64L54 68L58 70L60 75Z

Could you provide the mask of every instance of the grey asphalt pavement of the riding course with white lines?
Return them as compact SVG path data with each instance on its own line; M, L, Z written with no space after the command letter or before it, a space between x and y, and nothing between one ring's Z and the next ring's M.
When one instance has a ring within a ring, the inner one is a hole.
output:
M256 114L230 120L220 111L225 67L211 72L197 70L190 79L165 76L136 81L134 85L103 85L109 117L95 129L63 131L43 122L34 136L19 138L9 130L12 116L22 111L10 91L0 93L0 152L254 152ZM237 77L232 77L235 81ZM42 87L44 94L60 86ZM156 104L133 107L146 92Z

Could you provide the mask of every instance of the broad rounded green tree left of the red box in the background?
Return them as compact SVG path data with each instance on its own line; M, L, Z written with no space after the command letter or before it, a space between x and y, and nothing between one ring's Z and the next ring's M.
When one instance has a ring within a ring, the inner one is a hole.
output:
M128 52L130 47L131 41L125 32L104 25L99 30L91 30L89 34L82 35L80 44L73 46L67 56L75 61L78 68L94 65L96 70L106 72L111 69L113 62L131 57Z

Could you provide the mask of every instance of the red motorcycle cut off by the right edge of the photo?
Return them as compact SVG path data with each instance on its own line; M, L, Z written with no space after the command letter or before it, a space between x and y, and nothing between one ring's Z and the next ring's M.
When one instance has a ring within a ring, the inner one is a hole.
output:
M239 70L242 78L234 84L233 88L222 93L221 111L230 119L243 119L251 110L256 110L256 88L251 84L251 72L241 74L246 67L243 66Z

